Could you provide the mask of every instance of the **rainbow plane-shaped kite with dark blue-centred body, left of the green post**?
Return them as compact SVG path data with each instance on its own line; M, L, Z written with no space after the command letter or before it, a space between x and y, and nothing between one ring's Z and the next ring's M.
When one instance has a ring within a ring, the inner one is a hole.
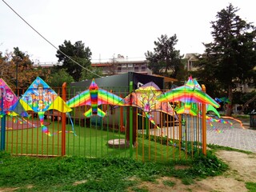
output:
M99 109L98 106L102 104L122 106L123 101L122 98L118 97L118 95L99 88L93 79L90 83L89 89L82 91L82 93L77 94L74 98L70 98L66 104L71 108L86 105L91 106L90 110L87 110L84 113L84 115L89 118L92 115L98 115L99 117L104 117L106 115L106 113Z

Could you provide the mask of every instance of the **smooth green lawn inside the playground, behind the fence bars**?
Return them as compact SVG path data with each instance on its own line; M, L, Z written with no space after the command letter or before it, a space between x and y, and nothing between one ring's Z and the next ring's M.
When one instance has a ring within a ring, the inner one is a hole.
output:
M61 124L52 122L48 126L50 133L58 133ZM66 130L71 131L70 125ZM110 139L126 138L126 134L115 132L114 130L103 130L100 126L81 127L74 126L75 134L66 134L66 155L79 155L90 158L100 157L130 157L141 159L142 161L169 161L170 159L190 158L183 150L175 146L166 146L151 139L138 137L138 146L113 148L107 145ZM160 139L161 140L161 139ZM43 154L61 155L62 135L54 134L47 136L42 133L41 127L23 130L6 131L6 150L11 154Z

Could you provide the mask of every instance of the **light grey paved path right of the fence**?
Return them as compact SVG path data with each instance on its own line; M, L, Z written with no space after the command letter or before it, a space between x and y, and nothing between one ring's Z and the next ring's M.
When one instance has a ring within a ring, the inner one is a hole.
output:
M228 124L223 123L214 122L213 124L218 130L222 130L222 133L218 133L207 125L207 144L229 146L256 153L256 130L249 129L246 123L244 123L245 129L238 122L234 122L234 128L230 128Z

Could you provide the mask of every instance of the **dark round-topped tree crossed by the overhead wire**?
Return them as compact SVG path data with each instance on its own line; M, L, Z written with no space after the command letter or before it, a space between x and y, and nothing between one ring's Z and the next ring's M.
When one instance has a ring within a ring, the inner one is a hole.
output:
M79 81L82 76L82 69L90 66L91 52L89 47L85 47L82 41L75 42L72 45L70 41L65 40L64 44L58 46L58 48L56 57L58 58L58 62L62 62L63 64L62 66L54 66L55 70L65 69L74 78L74 81ZM65 54L75 62L66 57Z

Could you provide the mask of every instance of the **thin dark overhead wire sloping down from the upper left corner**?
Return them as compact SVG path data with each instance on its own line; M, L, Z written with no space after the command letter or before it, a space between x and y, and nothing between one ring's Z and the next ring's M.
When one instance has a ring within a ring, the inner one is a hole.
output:
M10 8L10 10L14 11L15 14L18 15L19 18L22 19L23 22L26 22L26 20L24 18L22 18L22 16L20 16L11 6L8 5L8 3L6 3L4 0L2 0L2 2L4 2L6 4L6 6L8 6ZM28 22L26 22L26 24L28 26L30 26L30 24ZM53 46L56 50L58 50L59 52L61 52L62 54L64 54L67 58L69 58L72 62L76 63L78 66L81 66L83 69L89 71L91 74L95 74L93 71L88 70L86 67L82 66L81 64L79 64L78 62L74 61L73 58L70 58L70 56L68 56L67 54L63 53L62 50L59 50L56 46L54 46L54 44L52 44L50 41L48 41L45 37L42 36L42 34L40 34L38 32L38 30L35 30L33 26L30 26L30 28L32 30L34 30L40 37L42 37L44 40L46 40L46 42L48 42L51 46ZM102 76L95 74L96 76L98 76L99 78L102 78Z

